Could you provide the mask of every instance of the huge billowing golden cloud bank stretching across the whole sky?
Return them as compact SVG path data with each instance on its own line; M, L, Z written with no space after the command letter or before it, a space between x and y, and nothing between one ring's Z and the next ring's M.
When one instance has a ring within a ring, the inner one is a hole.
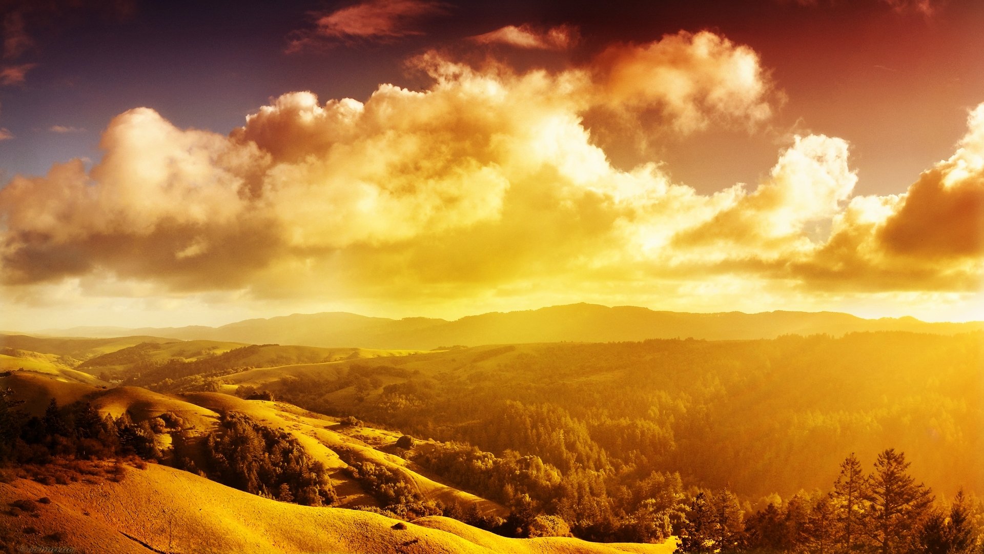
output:
M411 64L424 90L288 93L227 136L118 115L91 171L0 190L0 280L366 303L979 284L984 107L903 195L854 196L849 145L823 135L793 139L754 186L701 194L656 162L614 167L584 114L764 124L773 88L746 46L680 34L556 71Z

